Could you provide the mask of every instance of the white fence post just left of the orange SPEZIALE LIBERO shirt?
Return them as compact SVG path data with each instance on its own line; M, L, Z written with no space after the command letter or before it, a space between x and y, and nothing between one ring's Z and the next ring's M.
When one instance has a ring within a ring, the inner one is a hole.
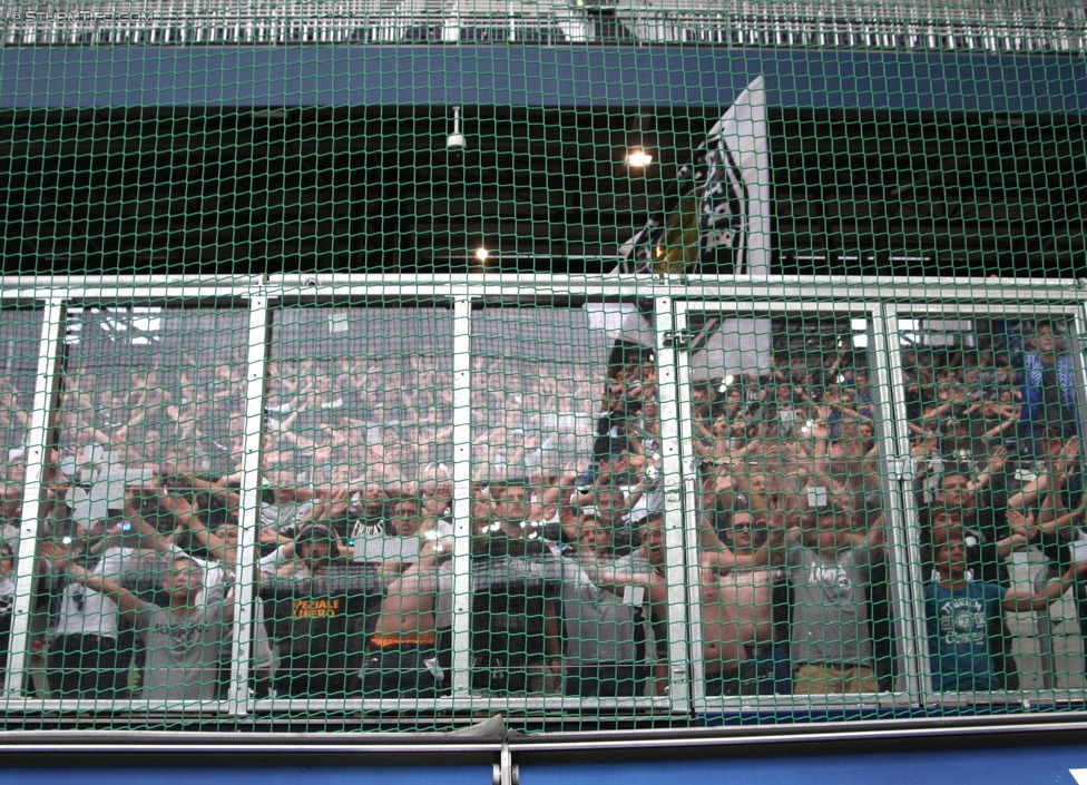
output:
M255 575L257 565L257 527L261 516L261 442L264 426L264 395L268 354L268 298L249 297L249 328L245 370L245 434L242 447L242 509L238 511L237 563L234 566L237 612L231 661L229 710L246 714L249 699L249 661L252 659Z

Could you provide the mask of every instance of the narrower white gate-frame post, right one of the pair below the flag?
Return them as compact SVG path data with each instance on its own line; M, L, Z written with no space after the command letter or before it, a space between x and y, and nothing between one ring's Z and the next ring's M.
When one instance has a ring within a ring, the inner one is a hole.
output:
M688 334L687 304L675 304L677 335ZM694 712L704 710L706 660L702 645L702 531L698 510L698 455L695 452L694 415L691 411L691 352L675 352L679 415L679 469L683 474L683 533L687 572L687 650L691 657L689 696Z

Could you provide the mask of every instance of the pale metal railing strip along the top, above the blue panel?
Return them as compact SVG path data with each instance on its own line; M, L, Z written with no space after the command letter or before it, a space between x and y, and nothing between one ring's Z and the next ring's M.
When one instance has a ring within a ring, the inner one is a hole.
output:
M21 7L8 14L3 42L631 42L1083 52L1087 8L1052 0L84 0Z

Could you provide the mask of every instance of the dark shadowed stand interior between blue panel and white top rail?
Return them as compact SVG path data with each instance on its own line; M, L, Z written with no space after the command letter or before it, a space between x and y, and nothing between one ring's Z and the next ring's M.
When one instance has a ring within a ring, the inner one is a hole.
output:
M7 272L603 273L718 110L0 112ZM625 160L654 150L645 170ZM1085 248L1077 116L771 108L774 272L1050 275ZM477 271L482 272L482 271ZM723 271L728 272L728 271Z

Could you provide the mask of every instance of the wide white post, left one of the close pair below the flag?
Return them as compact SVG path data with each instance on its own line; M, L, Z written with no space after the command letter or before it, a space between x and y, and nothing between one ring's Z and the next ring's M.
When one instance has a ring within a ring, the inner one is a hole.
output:
M683 469L679 452L675 316L672 297L654 298L657 384L660 394L660 454L664 464L665 586L668 597L668 695L672 710L689 710L686 581L684 580Z

